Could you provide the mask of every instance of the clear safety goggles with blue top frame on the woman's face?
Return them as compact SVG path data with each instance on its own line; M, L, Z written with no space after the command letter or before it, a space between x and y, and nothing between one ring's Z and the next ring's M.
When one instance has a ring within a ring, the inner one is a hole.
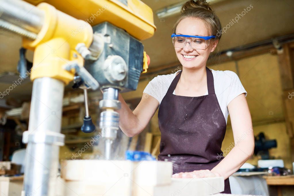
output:
M173 40L173 46L176 48L184 48L188 42L194 50L205 50L211 38L216 36L189 36L189 35L177 35L173 33L171 35Z

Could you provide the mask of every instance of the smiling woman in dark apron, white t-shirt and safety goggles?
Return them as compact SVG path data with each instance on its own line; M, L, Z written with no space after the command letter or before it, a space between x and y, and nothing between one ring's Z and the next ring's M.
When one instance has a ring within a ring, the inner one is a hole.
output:
M133 112L120 95L120 127L128 136L139 134L159 106L158 160L173 163L175 178L222 176L223 193L230 193L228 177L253 154L254 136L247 92L238 75L206 67L221 29L218 16L205 0L187 1L171 35L182 70L153 78ZM131 115L123 115L126 111ZM221 146L229 112L234 138L250 131L224 157Z

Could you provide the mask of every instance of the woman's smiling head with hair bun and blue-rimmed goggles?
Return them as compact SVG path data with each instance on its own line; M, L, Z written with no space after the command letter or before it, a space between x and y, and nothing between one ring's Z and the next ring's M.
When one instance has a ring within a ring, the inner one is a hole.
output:
M185 39L179 37L176 40L177 37L173 37L176 55L183 66L195 67L192 60L196 57L196 67L206 65L209 54L215 50L221 38L221 33L218 33L222 29L220 20L206 1L188 1L183 5L181 13L173 27L173 35L182 35ZM195 35L198 38L193 38Z

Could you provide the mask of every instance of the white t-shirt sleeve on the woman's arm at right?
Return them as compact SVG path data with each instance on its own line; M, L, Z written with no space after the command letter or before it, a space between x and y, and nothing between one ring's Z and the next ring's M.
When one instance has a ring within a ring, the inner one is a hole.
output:
M230 86L228 87L228 97L227 97L227 106L228 104L235 99L238 95L245 93L245 97L247 96L247 92L244 89L238 75L235 72L228 71L230 75Z

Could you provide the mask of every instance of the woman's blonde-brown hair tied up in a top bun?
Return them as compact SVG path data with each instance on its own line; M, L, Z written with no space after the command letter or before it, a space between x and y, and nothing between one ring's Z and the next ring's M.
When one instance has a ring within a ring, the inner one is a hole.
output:
M201 19L210 33L208 36L214 35L216 36L214 40L220 40L222 32L220 19L216 16L206 0L190 0L184 3L181 9L181 16L173 26L173 33L176 33L176 28L181 20L188 17Z

